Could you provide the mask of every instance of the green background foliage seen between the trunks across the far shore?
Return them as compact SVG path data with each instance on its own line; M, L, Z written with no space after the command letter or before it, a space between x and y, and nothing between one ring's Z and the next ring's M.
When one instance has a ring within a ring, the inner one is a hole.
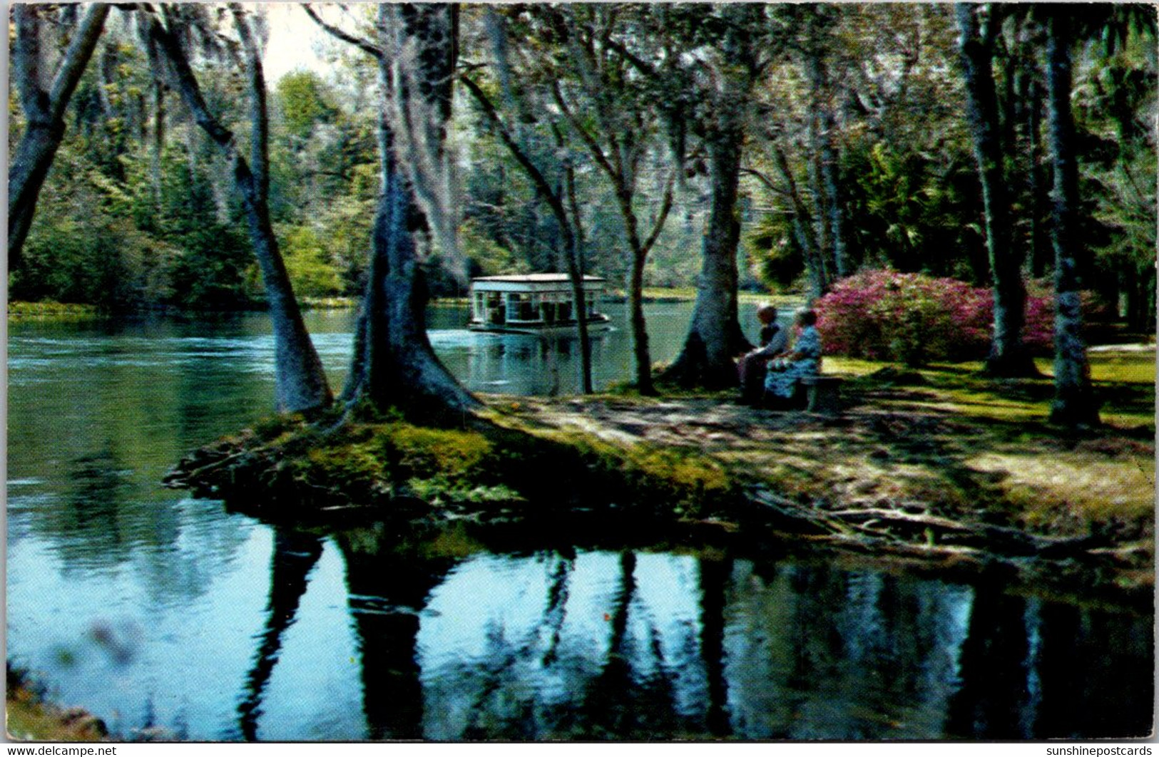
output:
M1086 198L1078 233L1083 249L1091 252L1088 286L1109 304L1117 299L1134 325L1151 328L1156 31L1153 14L1131 13L1087 14L1086 42L1076 49L1072 100ZM834 106L830 137L848 270L889 266L986 284L982 198L962 112L962 83L954 71L956 31L948 7L770 7L745 15L694 5L614 12L512 6L501 15L509 24L508 71L495 60L472 75L552 185L564 186L566 168L574 169L588 271L622 277L625 227L588 146L557 112L553 87L561 84L563 100L574 105L578 125L589 134L602 138L612 126L619 154L606 152L606 157L632 163L642 228L656 211L669 159L684 159L676 205L649 256L646 282L688 286L700 273L710 181L698 142L710 131L705 116L713 106L694 96L704 84L700 74L673 53L698 50L706 60L723 61L719 73L731 76L743 61L730 61L722 46L730 44L735 24L749 24L767 43L761 53L778 51L751 95L759 101L759 118L746 124L744 149L745 164L775 186L750 192L738 218L745 251L760 278L781 291L801 281L804 260L795 211L770 144L786 154L797 194L816 214L819 184L811 177L816 167L809 130L815 101L823 97ZM1021 34L1030 29L1019 25L1027 14L1008 12L1003 17L994 73L1004 118L1009 119L1003 139L1015 203L1013 230L1020 251L1036 250L1033 271L1041 277L1049 274L1051 258L1042 223L1049 176L1040 177L1036 204L1027 176L1035 162L1044 166L1043 133L1037 134L1038 152L1032 154L1030 103L1020 104L1026 98L1018 88L1041 84L1040 43ZM491 52L481 46L483 20L481 10L464 12L465 60L474 63ZM611 44L596 45L588 63L576 59L560 36L568 24L575 25L578 38L606 27L610 42L632 51L635 60ZM828 72L824 91L812 90L812 56ZM296 291L308 297L362 293L378 193L379 112L367 95L376 69L356 51L342 49L335 59L333 73L294 71L270 82L271 214ZM202 84L210 108L234 130L245 153L248 112L241 79L224 60L204 59L197 66L205 74ZM643 73L649 67L655 75ZM590 81L584 79L589 74ZM122 30L107 32L70 106L70 126L27 255L10 272L13 297L87 302L108 310L156 304L239 308L261 297L228 167L187 120L173 90L165 97L163 149L154 155L153 86L138 42ZM454 118L452 144L464 157L465 272L560 270L562 237L544 199L476 108L457 103ZM14 90L9 120L12 150L23 127ZM431 291L461 293L464 282L442 263L428 260Z

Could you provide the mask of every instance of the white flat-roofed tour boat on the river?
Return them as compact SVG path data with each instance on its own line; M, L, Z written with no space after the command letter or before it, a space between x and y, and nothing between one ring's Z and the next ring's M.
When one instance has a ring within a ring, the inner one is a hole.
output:
M608 317L596 311L605 280L583 278L583 314L590 331L611 329ZM471 323L475 331L503 333L574 333L575 297L566 273L484 275L471 281Z

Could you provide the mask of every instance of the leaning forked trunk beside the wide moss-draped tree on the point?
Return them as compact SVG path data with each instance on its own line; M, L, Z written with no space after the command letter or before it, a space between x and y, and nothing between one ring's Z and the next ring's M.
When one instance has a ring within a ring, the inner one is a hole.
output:
M246 42L248 27L245 19L240 17L240 10L238 14L239 32ZM305 412L326 407L330 404L331 397L322 361L309 340L277 237L274 235L274 227L270 225L267 204L269 178L265 159L265 83L256 50L249 44L252 41L248 41L246 46L250 88L254 95L252 101L254 170L250 170L246 159L238 152L234 134L210 113L197 78L176 37L162 27L155 16L150 19L150 35L169 60L181 96L197 124L232 164L234 186L241 196L249 225L249 237L254 245L254 257L257 258L257 265L262 271L270 319L274 324L276 406L284 412Z

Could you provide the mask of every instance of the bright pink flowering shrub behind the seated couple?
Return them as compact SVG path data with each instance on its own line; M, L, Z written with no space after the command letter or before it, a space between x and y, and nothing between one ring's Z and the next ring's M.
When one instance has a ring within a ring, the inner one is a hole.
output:
M991 291L956 279L867 271L839 281L814 309L825 352L832 354L921 365L978 360L990 351ZM1027 345L1047 351L1052 335L1051 297L1028 295Z

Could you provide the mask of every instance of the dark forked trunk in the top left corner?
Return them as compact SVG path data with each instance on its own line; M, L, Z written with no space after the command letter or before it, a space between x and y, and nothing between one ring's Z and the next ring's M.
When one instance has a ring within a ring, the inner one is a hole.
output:
M57 156L65 134L65 109L76 83L88 66L93 50L104 29L110 6L93 3L76 28L52 80L52 88L44 91L41 82L41 13L32 2L13 7L16 38L13 45L13 79L20 89L21 106L28 124L16 147L8 171L8 270L20 265L28 230L36 214L41 188Z

